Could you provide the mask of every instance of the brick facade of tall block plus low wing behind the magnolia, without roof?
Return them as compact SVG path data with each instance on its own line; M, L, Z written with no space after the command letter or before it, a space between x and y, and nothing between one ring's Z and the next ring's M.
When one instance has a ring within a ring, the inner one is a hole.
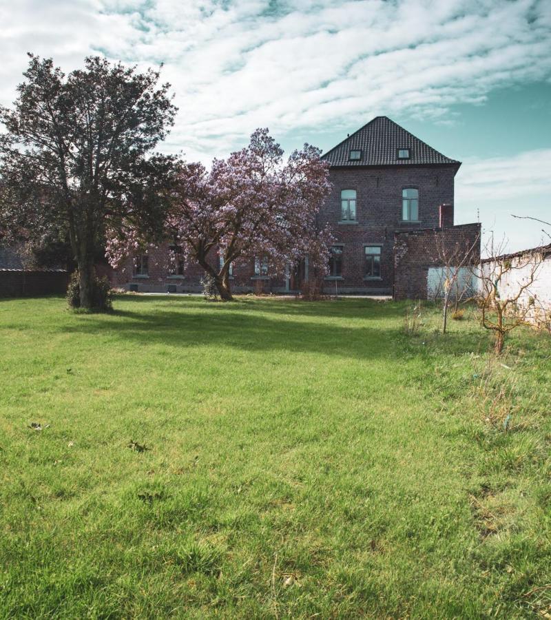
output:
M394 244L396 231L434 229L441 223L453 225L453 196L455 165L407 165L386 167L332 168L329 180L333 184L318 223L329 223L335 242L343 246L342 277L324 281L325 290L339 293L391 294L394 287ZM412 187L419 191L419 221L402 221L402 189ZM340 192L356 190L356 222L340 222ZM442 208L441 208L442 207ZM381 277L365 277L366 245L381 247ZM167 292L176 286L176 292L202 290L200 280L203 269L194 263L186 265L183 276L169 274L169 247L163 245L149 250L149 273L147 277L136 276L132 260L127 260L112 278L114 286L134 288L142 292ZM211 264L217 264L216 253ZM310 271L309 278L315 277ZM290 288L300 286L300 278L291 278ZM262 287L265 292L284 292L284 277L258 280L254 278L253 260L245 260L233 267L232 289L235 292L255 291ZM174 290L174 289L173 289Z

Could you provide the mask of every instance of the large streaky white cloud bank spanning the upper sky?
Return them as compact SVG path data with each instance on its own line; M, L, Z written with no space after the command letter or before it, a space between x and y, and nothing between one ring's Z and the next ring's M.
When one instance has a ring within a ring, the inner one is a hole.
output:
M450 105L551 76L546 0L20 0L0 20L2 103L28 50L67 70L164 62L180 108L164 148L202 161L258 125L315 143L375 114L451 122Z

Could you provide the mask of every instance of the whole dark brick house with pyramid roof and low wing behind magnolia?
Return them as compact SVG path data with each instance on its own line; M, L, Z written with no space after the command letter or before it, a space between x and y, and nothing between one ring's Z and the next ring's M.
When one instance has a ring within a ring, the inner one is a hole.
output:
M335 237L324 278L327 292L426 298L428 269L438 263L435 231L449 229L446 239L456 244L472 245L479 235L479 224L453 225L454 178L461 162L386 116L373 118L322 157L331 166L333 190L318 222L329 223ZM168 252L167 245L137 257L136 265L129 260L114 274L114 284L136 291L200 291L199 265L180 263L170 272ZM211 260L216 265L216 253ZM312 277L307 258L294 273L274 279L262 260L251 257L233 269L232 289L290 292Z

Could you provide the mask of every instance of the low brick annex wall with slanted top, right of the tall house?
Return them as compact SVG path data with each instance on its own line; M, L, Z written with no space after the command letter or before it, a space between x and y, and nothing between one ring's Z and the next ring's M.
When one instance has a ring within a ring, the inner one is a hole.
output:
M395 234L394 298L426 299L429 269L443 266L439 248L449 256L470 253L470 262L480 260L479 223L448 228L399 231Z

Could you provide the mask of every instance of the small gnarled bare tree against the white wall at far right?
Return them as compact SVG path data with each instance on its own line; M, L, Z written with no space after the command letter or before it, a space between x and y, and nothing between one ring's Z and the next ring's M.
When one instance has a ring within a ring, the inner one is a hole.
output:
M503 254L503 248L503 242L494 247L493 239L490 240L486 251L491 258L482 261L477 269L481 324L494 333L497 354L503 351L510 331L531 322L536 297L530 289L543 260L540 251Z

